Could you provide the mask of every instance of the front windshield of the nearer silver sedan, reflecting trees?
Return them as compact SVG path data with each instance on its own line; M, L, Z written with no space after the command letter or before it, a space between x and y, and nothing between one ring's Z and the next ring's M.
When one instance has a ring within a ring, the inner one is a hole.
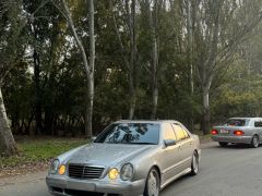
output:
M105 130L94 143L157 145L159 130L159 124L153 123L116 123Z

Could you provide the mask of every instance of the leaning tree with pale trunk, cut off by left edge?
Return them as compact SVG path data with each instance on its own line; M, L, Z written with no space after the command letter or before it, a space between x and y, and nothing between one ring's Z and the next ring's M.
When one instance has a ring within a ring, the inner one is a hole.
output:
M20 2L0 2L0 155L11 156L17 154L17 148L10 128L1 88L5 76L23 53L21 41L17 41L19 38L23 40L21 37L23 19L17 17L22 11Z

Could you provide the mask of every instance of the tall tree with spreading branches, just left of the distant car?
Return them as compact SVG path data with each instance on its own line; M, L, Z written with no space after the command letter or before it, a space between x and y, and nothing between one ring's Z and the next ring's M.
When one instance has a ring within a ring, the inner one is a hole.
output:
M196 66L203 105L202 128L210 131L210 89L214 77L226 69L237 46L261 21L261 11L249 10L248 20L236 19L243 14L241 3L235 0L202 0L195 2ZM247 8L247 7L245 7ZM238 21L240 20L240 21ZM217 77L216 77L217 78Z

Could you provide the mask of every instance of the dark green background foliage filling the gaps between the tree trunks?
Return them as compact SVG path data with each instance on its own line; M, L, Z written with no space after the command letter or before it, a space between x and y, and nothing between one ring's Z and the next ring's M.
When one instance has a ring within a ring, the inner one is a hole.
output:
M36 125L34 49L37 50L40 61L39 102L43 134L74 136L84 132L83 122L87 100L85 100L86 82L82 60L67 21L59 10L62 7L58 0L53 2L57 7L51 1L45 3L41 0L23 0L17 1L15 7L12 7L13 9L5 9L1 12L0 76L2 73L9 73L2 83L2 91L12 131L16 134L34 134ZM110 1L95 2L96 65L93 118L95 134L111 121L127 119L129 112L129 71L124 65L114 29L112 14L117 17L123 46L130 50L128 19L124 15L123 1L111 2L114 13L110 10ZM199 30L204 33L204 26L209 20L215 20L213 19L215 13L211 14L212 8L207 7L209 0L200 1L203 7L200 5L199 9L202 9L203 19L199 21L199 26L193 27L194 95L191 96L187 7L180 0L169 2L171 4L160 4L156 14L158 17L156 36L159 42L157 68L159 99L156 117L176 119L188 124L189 117L193 112L195 123L199 124L202 103L200 73L196 65L203 62L210 51L207 51L206 41L203 37L201 38L203 35L198 33ZM225 4L221 10L219 25L222 28L219 47L222 48L230 44L231 38L235 38L234 36L242 29L243 24L248 24L253 19L252 9L257 13L261 7L258 0L243 1L248 5L241 8L236 0L223 2ZM76 32L88 52L87 1L69 0L68 3ZM150 119L152 73L148 64L152 32L148 30L147 19L143 12L145 8L142 4L136 1L135 33L139 69L135 77L139 84L134 117L135 119ZM11 27L8 28L10 25ZM195 29L201 25L202 29ZM240 47L234 46L234 58L216 66L221 70L216 70L210 96L214 122L233 115L261 114L261 26L255 27L252 35L247 34L245 38L247 41Z

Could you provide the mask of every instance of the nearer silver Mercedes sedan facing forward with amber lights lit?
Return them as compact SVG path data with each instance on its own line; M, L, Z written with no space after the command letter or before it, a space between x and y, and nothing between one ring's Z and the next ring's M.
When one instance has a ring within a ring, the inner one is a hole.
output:
M92 143L57 157L46 177L53 195L158 196L199 172L200 142L177 121L118 121Z

